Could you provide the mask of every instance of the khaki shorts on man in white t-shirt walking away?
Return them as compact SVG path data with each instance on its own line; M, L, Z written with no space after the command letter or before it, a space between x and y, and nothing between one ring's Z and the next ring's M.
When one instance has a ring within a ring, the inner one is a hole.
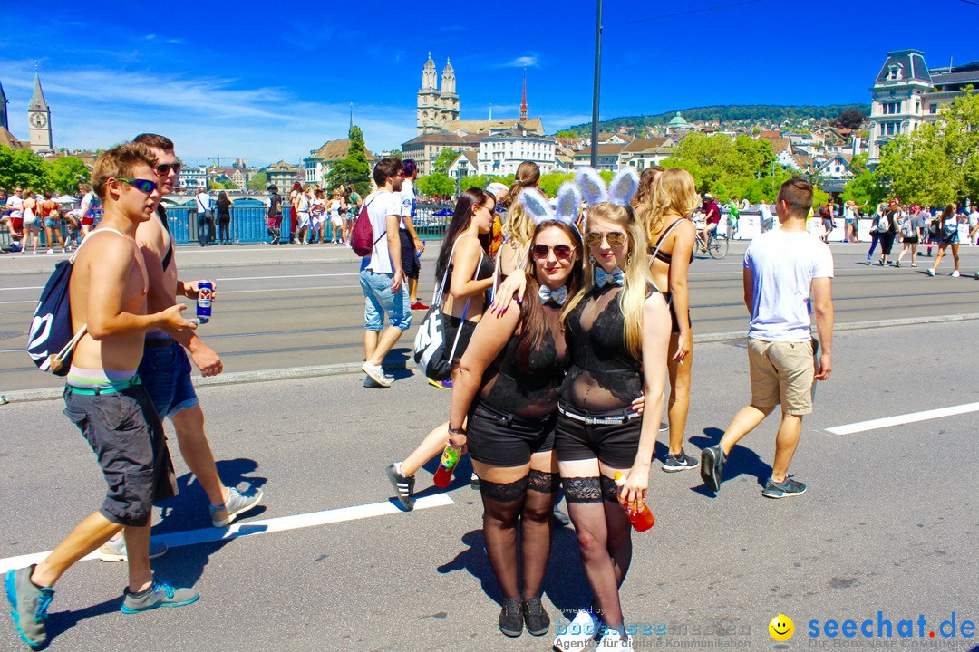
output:
M816 363L813 342L765 342L748 338L748 367L751 372L751 404L782 413L813 412Z

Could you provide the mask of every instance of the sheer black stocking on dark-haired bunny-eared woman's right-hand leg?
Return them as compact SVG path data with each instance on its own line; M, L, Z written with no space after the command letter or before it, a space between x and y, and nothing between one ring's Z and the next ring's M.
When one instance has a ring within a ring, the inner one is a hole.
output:
M520 553L524 561L524 598L540 595L550 555L554 501L561 476L531 469L527 500L520 519Z

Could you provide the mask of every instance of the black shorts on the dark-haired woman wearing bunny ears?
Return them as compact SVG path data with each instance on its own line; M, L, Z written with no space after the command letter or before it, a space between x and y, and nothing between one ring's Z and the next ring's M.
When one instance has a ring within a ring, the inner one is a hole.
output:
M537 418L516 416L478 401L469 413L469 456L490 466L522 466L531 456L554 450L557 413Z

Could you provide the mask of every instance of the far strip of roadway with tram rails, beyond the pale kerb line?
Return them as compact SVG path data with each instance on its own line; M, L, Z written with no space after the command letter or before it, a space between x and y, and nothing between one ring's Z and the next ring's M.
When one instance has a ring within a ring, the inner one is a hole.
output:
M695 335L743 331L741 256L746 244L734 242L721 261L699 256L690 271L691 314ZM965 278L944 278L917 269L866 267L866 245L832 245L838 324L933 317L979 312L979 247L961 247ZM897 250L897 245L895 247ZM435 243L424 257L419 297L433 292ZM30 316L54 263L62 256L0 256L0 394L55 387L23 353ZM200 334L224 361L227 371L283 369L359 362L363 358L363 296L357 259L339 245L180 247L181 278L210 278L218 298L210 324ZM908 259L906 259L906 264ZM421 313L416 313L420 320ZM414 327L402 337L394 360L403 360Z

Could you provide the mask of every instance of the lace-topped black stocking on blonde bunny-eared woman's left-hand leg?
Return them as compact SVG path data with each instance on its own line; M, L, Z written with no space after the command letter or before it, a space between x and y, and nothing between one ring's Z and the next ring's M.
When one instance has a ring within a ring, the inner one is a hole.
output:
M622 626L618 574L608 550L608 526L602 504L602 486L597 477L562 478L568 499L568 515L578 533L584 575L609 626Z

